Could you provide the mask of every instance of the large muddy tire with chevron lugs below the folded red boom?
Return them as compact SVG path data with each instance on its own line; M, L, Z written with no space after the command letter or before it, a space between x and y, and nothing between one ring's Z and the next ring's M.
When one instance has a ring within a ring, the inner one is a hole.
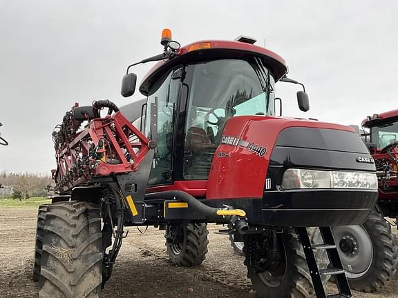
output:
M101 297L102 233L96 204L48 206L41 257L40 298Z

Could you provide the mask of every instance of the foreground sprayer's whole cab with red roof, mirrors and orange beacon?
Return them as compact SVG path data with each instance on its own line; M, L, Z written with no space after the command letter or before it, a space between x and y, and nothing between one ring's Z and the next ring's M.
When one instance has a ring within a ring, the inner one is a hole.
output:
M171 37L162 37L163 56L141 61L162 60L140 86L147 97L144 134L158 144L149 186L207 180L231 117L275 115L274 84L287 79L287 66L274 52L252 43L247 38L199 41L180 48ZM129 68L122 83L125 97L135 88L136 76ZM307 97L304 100L308 109Z

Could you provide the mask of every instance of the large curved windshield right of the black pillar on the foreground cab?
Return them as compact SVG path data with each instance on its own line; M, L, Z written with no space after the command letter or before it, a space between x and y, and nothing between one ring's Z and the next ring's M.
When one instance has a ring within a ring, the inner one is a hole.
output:
M185 67L188 108L184 178L207 179L225 123L274 115L274 77L260 59L221 59Z

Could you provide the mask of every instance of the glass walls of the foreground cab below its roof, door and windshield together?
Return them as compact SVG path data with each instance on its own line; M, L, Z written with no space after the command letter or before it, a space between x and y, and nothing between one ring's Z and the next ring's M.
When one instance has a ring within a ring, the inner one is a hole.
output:
M202 180L229 118L274 115L274 77L254 58L187 63L149 88L147 113L156 99L158 152L149 183L170 183L173 168L179 168L176 179ZM150 121L144 133L153 137ZM173 157L173 148L183 154Z

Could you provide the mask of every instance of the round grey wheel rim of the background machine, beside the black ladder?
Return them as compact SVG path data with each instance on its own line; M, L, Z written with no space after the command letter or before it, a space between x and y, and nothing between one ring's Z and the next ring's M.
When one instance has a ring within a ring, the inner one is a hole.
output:
M348 278L356 279L368 272L373 261L373 245L363 226L333 228L334 241Z

